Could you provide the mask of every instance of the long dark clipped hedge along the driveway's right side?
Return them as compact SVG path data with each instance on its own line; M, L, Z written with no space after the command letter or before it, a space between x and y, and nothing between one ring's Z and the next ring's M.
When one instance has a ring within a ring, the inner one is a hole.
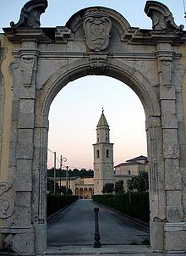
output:
M150 220L149 192L127 192L120 195L94 195L97 203L145 222Z

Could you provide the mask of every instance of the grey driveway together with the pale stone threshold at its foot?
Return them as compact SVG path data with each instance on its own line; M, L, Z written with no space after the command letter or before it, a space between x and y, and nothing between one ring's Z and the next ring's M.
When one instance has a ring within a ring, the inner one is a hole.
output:
M186 256L185 253L153 253L141 245L148 232L118 212L100 206L101 248L93 248L94 207L91 200L78 200L47 221L47 256L59 255L134 255ZM137 242L138 245L131 243Z

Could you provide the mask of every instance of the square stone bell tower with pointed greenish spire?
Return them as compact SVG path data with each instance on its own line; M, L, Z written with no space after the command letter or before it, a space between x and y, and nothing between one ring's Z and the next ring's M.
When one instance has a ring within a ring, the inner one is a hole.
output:
M113 182L113 143L110 143L109 125L102 109L96 128L94 147L94 194L102 194L106 183Z

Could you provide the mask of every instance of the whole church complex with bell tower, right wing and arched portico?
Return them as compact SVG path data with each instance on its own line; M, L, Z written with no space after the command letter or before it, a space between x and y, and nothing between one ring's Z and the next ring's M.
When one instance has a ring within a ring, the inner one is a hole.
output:
M143 155L114 166L113 143L110 142L109 132L109 125L102 110L96 126L96 143L93 144L94 178L75 176L68 181L66 178L61 179L61 186L66 186L68 182L73 194L79 198L90 199L93 194L101 195L106 183L115 184L117 181L123 181L123 190L127 192L128 181L138 176L140 171L149 170L148 159Z

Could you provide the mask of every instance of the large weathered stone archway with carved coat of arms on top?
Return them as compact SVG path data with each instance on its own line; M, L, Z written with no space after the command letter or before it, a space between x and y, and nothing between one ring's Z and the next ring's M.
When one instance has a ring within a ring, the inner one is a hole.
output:
M47 0L28 4L30 16L47 8ZM121 14L102 7L80 10L65 27L45 29L36 23L30 28L22 14L18 24L4 29L14 45L14 63L8 63L14 97L8 180L0 193L8 203L0 215L3 250L46 250L48 112L57 92L85 75L112 76L139 96L150 160L150 244L156 251L186 250L186 64L180 63L179 49L185 33L163 4L148 1L145 12L153 21L151 31L132 28Z

